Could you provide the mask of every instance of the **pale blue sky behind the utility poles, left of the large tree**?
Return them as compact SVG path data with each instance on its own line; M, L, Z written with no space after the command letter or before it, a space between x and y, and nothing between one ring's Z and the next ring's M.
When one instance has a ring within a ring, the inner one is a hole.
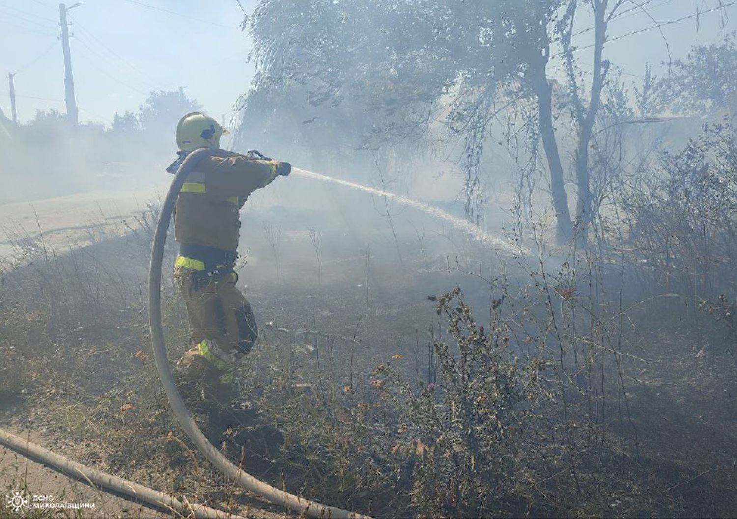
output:
M241 3L250 11L255 0ZM69 11L80 121L107 123L113 113L137 110L149 91L179 86L218 119L229 119L254 74L246 59L250 41L238 28L242 18L236 0L83 0ZM58 19L55 1L0 0L0 106L10 114L6 76L18 71L21 121L37 109L65 107ZM45 99L32 99L38 97Z

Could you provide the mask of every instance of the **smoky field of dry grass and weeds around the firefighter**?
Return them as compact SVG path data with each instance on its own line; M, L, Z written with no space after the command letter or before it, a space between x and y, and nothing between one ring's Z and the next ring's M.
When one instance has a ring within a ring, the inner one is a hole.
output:
M31 263L0 288L0 353L13 374L2 391L58 437L88 445L88 464L191 501L247 506L168 412L141 282L150 225L135 231L63 256L24 246ZM514 275L485 278L420 246L405 245L396 279L374 274L372 247L355 283L366 286L323 278L315 296L279 279L257 289L262 322L275 326L262 326L240 389L284 444L228 431L222 448L234 461L276 487L375 515L730 515L733 369L718 349L699 353L703 334L683 340L688 327L628 299L612 283L619 267L601 258L520 262ZM423 273L408 275L415 266ZM490 292L492 308L436 290L458 281ZM189 339L181 302L164 291L175 359Z

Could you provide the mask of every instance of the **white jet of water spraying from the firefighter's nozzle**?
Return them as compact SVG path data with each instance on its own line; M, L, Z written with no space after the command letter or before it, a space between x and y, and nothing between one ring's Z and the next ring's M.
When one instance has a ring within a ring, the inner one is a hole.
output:
M440 208L433 207L433 205L427 205L423 202L419 202L419 200L413 200L411 198L402 197L398 194L390 193L388 191L382 191L381 189L364 186L363 184L351 182L350 180L341 180L338 178L328 177L327 175L320 173L308 172L305 169L292 168L292 171L295 174L298 174L300 177L312 178L314 180L322 180L324 182L332 182L340 184L342 186L348 186L349 188L366 191L366 193L371 193L379 197L388 198L389 200L399 202L403 205L409 205L410 207L419 209L420 211L424 211L427 214L435 216L436 218L444 220L452 224L453 226L458 227L459 229L468 233L469 236L472 236L474 239L477 239L478 241L481 241L485 244L489 244L492 247L497 247L498 249L505 250L508 253L531 255L531 251L520 244L510 243L509 241L498 238L497 236L487 233L481 227L478 227L478 225L474 225L471 222L467 222L464 219L458 218L458 216L453 216L447 211L443 211Z

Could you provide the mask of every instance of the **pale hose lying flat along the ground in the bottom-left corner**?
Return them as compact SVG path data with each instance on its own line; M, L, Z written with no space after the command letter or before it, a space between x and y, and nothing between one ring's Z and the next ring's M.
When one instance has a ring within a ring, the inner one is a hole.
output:
M39 463L43 463L43 465L53 467L69 476L85 481L85 483L93 486L99 485L100 487L114 490L119 494L133 498L135 501L142 501L158 509L164 509L170 512L175 511L183 517L192 517L192 515L194 515L195 518L203 519L244 519L240 515L223 512L223 510L216 510L202 504L183 503L171 495L164 494L164 492L158 492L148 487L144 487L141 484L133 483L133 481L128 481L127 479L122 479L118 476L113 476L100 470L86 467L81 463L73 462L69 458L53 453L40 445L31 443L26 439L15 436L15 434L3 431L2 429L0 429L0 444L13 449L13 451L22 454L23 456L27 456ZM268 514L268 512L264 514L259 512L259 517L264 517L265 515L276 517L275 514Z

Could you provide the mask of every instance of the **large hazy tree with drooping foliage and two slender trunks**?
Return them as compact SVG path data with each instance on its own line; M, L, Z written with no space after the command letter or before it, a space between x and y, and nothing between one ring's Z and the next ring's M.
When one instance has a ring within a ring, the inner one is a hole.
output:
M396 142L425 135L438 112L447 138L461 138L458 163L469 200L478 196L480 157L489 124L511 110L529 111L548 165L556 234L567 241L573 221L553 123L551 45L570 36L579 4L595 13L595 81L590 104L576 98L578 220L590 220L587 150L607 71L601 59L607 22L624 0L261 0L251 18L261 69L246 100L273 91L304 93L309 105L363 107L366 138ZM274 31L273 27L279 27ZM293 85L294 88L291 88ZM577 82L571 88L580 88ZM292 100L295 98L292 97ZM276 108L274 108L276 109ZM529 141L537 146L537 140ZM530 150L534 152L534 150ZM467 210L467 216L469 211Z

